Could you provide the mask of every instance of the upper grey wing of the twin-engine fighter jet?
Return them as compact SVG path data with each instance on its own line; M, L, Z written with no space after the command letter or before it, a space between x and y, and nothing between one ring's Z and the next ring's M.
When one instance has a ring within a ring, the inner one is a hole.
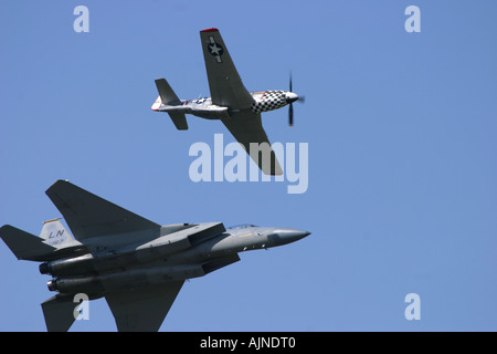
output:
M45 192L80 241L160 228L157 223L65 180L57 180Z

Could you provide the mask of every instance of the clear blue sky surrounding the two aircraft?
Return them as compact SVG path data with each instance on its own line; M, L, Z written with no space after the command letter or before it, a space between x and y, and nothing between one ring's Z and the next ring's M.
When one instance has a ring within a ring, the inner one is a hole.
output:
M76 33L73 10L89 10ZM408 6L421 32L408 33ZM497 4L490 1L1 1L0 225L39 235L70 181L159 223L311 236L182 288L161 331L496 331ZM263 114L308 143L308 189L193 183L195 142L232 137L150 111L154 80L209 96L199 31L219 28L248 91L306 96ZM45 331L38 264L0 242L0 331ZM404 298L417 293L421 320ZM72 331L114 331L105 300Z

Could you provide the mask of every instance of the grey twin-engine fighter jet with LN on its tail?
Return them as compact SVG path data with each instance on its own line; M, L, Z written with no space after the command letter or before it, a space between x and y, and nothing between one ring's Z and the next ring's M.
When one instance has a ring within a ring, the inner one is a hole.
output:
M239 261L239 252L309 235L222 222L160 226L64 180L46 195L75 239L57 219L44 223L41 237L9 225L0 237L18 259L42 262L40 272L53 277L47 287L57 294L41 304L49 331L71 327L80 293L105 296L118 331L158 331L184 280Z

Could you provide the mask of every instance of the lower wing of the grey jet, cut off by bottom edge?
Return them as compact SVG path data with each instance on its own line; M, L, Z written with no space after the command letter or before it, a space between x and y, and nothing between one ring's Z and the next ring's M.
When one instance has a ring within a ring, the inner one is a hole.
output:
M157 332L183 281L105 295L119 332Z

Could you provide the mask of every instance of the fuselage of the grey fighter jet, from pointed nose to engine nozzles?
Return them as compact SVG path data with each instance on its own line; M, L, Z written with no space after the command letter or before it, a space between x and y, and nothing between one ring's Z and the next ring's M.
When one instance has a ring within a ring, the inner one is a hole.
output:
M222 223L184 225L184 229L136 248L45 262L40 266L40 271L55 277L47 283L51 291L86 293L96 299L108 291L202 277L239 261L239 252L282 246L309 235L296 229L242 226L212 237L212 232L221 230L220 226ZM170 227L173 226L161 229ZM200 237L198 243L193 241L188 247L191 241L186 242L184 239L191 236L188 230L192 231L194 227L203 227L208 232ZM181 231L187 231L184 237L176 237L175 233Z

